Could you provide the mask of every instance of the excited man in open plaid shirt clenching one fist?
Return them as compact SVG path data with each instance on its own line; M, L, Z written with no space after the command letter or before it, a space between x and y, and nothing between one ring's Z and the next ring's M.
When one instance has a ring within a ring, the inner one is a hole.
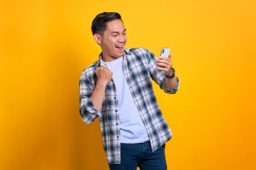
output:
M116 12L98 14L92 33L102 52L80 77L82 120L91 124L99 118L111 170L167 169L164 149L172 132L150 77L165 93L177 92L171 55L157 59L145 48L125 49L126 29Z

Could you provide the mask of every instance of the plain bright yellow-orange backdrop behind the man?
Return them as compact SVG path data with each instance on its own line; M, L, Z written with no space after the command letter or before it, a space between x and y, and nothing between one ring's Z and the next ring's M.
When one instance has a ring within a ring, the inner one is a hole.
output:
M170 170L256 169L256 2L0 1L0 169L108 169L98 119L79 114L79 77L98 60L90 30L119 12L126 48L170 47L176 94L154 90L173 138Z

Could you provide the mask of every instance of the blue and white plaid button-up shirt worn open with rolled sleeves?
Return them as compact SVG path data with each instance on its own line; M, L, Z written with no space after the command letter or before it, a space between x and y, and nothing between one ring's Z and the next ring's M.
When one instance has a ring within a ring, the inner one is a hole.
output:
M134 103L139 111L142 122L149 135L152 151L157 150L165 142L172 138L172 131L166 123L153 92L150 77L164 90L165 93L174 94L179 87L177 85L170 90L165 85L163 71L155 69L158 58L145 48L127 48L123 55L123 71L130 88ZM93 105L90 96L97 83L95 74L98 66L107 65L102 60L102 52L99 60L82 71L79 81L80 115L86 124L91 124L97 117L100 121L103 148L110 164L120 164L120 122L117 90L114 80L107 85L103 97L101 110Z

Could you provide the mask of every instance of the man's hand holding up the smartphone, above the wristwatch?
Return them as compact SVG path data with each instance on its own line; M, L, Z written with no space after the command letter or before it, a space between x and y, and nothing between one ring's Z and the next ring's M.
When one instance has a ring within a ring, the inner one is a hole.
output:
M164 71L164 74L166 74L167 76L172 75L171 54L169 54L169 57L160 56L159 59L156 60L156 65L162 66L162 67L156 67L156 70Z

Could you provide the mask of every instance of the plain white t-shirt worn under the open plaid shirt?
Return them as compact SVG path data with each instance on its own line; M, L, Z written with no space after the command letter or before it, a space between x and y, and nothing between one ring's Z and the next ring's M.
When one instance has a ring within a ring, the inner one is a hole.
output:
M123 56L112 62L104 63L112 71L112 79L117 89L121 143L133 144L149 141L147 130L125 80Z

